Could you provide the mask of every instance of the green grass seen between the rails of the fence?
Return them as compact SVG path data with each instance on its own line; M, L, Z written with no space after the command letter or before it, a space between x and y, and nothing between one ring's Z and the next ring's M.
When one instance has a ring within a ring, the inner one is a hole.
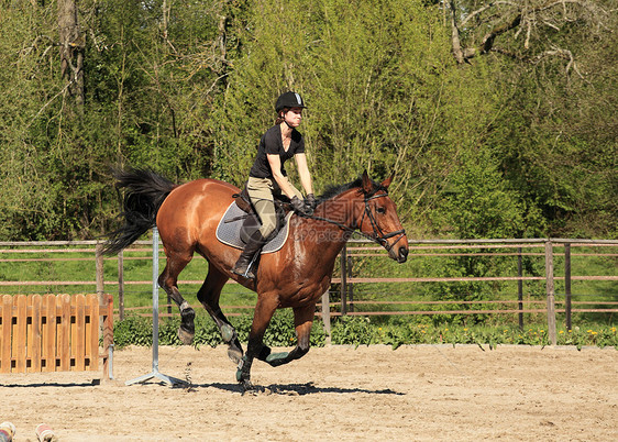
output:
M357 246L357 244L353 244ZM43 247L30 247L43 248ZM70 280L70 281L88 281L81 285L42 285L42 286L0 286L1 294L77 294L77 292L95 292L95 258L93 251L78 252L77 248L87 248L86 246L77 247L52 247L46 250L69 250L63 253L49 252L24 252L21 253L0 253L0 281L34 281L34 280ZM93 248L93 247L90 247ZM486 252L474 250L475 252ZM512 253L512 248L493 250L498 253ZM523 256L525 276L544 277L544 258L542 250L530 248L525 253L531 255ZM618 247L572 247L572 274L573 275L616 275L618 259L616 254ZM468 272L473 272L481 276L507 275L517 276L517 257L516 256L420 256L420 253L442 253L444 250L427 251L421 247L411 246L408 263L398 265L388 259L384 253L380 256L360 257L353 256L353 276L371 277L375 275L389 277L435 277L435 276L462 276ZM461 251L460 251L461 252ZM593 253L602 252L605 256L592 256ZM358 253L351 252L351 253ZM152 306L152 259L151 251L143 248L141 251L125 251L124 254L124 279L125 279L125 308L150 307ZM24 259L58 259L58 261L35 261L26 262ZM13 261L7 261L13 259ZM16 261L20 259L20 261ZM162 253L159 262L159 270L163 269L165 259ZM336 266L339 266L339 261ZM118 261L115 257L106 258L103 264L106 291L114 295L114 303L118 307ZM183 296L192 305L197 303L196 294L203 280L208 269L207 262L200 256L189 263L185 270L180 274L181 284L179 285ZM564 256L560 247L555 248L554 255L554 273L556 277L564 275ZM335 268L334 275L339 274ZM133 281L146 281L146 284L136 285ZM183 281L198 281L197 284L183 284ZM564 283L560 279L555 281L556 300L564 299ZM585 308L598 308L597 302L617 301L618 300L618 283L611 280L574 280L572 291L573 300L591 302L589 306L575 306ZM222 296L222 306L247 306L255 305L256 295L251 290L238 284L225 285ZM435 301L435 300L516 300L517 299L517 281L506 283L406 283L406 284L361 284L354 286L354 299L356 301L369 301L375 303L360 306L356 310L429 310L429 309L446 309L460 310L468 308L470 305L456 306L435 306L435 305L380 305L382 301ZM538 300L544 302L544 279L525 281L523 299ZM339 292L336 287L331 291L331 301L338 302ZM167 302L167 296L159 290L159 305ZM489 309L496 305L477 305L474 308ZM516 305L508 305L509 309L515 309ZM544 305L534 306L536 309L544 309ZM238 310L243 311L243 310ZM176 309L173 309L176 312ZM487 323L512 323L516 321L516 314L492 314L492 316L474 316L455 318L456 320L476 323L485 321ZM611 313L581 313L574 314L574 324L584 324L586 322L615 323ZM422 323L437 324L444 321L446 316L427 316L419 317L417 320ZM544 321L544 314L527 313L525 316L526 323L537 323ZM563 318L559 316L559 320ZM376 318L376 322L385 321L385 319Z

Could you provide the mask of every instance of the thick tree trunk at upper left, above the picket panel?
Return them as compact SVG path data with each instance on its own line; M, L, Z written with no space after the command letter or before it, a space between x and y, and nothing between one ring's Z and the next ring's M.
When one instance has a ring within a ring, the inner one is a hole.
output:
M77 0L58 0L58 34L60 40L60 70L68 84L66 92L84 104L85 36L77 24Z

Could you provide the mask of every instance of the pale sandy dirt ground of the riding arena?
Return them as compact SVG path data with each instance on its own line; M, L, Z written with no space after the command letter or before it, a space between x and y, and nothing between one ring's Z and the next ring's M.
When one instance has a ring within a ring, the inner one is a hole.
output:
M190 364L190 365L188 365ZM241 395L225 349L161 347L114 354L114 382L98 373L0 375L0 421L14 441L45 422L60 441L205 440L618 440L615 349L446 345L329 346L300 361L253 367L266 389Z

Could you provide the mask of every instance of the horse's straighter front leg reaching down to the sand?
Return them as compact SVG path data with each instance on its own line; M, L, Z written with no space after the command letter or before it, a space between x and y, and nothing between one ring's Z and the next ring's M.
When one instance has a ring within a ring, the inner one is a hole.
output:
M278 297L275 295L262 294L257 298L255 311L253 313L253 323L249 333L249 344L246 353L239 363L236 371L236 380L241 383L245 390L253 389L251 384L251 366L255 357L263 358L271 352L268 347L264 346L264 332L279 305Z

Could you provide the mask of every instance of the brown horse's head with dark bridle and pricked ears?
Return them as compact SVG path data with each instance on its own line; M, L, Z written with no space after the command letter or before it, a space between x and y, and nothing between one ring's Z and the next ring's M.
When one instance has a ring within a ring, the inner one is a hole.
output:
M356 228L365 235L388 251L388 256L398 263L408 258L408 239L401 226L395 202L388 197L388 186L393 175L382 181L374 183L367 172L362 177L362 195L364 209L356 220Z

